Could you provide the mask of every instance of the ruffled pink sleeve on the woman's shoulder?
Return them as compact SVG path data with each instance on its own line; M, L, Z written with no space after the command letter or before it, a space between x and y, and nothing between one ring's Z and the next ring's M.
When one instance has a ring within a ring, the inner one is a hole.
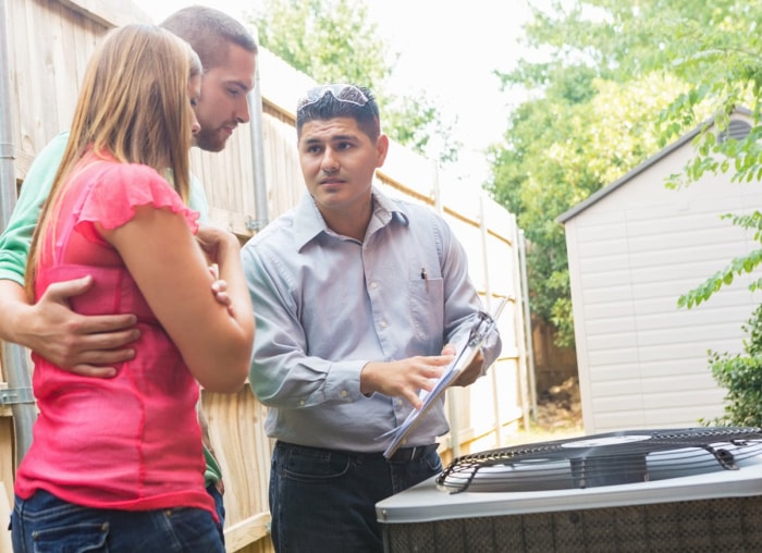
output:
M87 239L103 243L95 223L116 229L135 217L135 208L153 206L181 213L192 233L198 231L198 211L187 207L172 186L147 165L108 163L87 185L75 229Z

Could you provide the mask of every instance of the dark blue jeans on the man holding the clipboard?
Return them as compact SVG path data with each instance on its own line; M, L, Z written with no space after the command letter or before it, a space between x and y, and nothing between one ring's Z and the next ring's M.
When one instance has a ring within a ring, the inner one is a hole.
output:
M401 451L409 457L410 450ZM271 537L279 553L383 551L376 504L442 470L437 445L413 459L276 442L270 470Z

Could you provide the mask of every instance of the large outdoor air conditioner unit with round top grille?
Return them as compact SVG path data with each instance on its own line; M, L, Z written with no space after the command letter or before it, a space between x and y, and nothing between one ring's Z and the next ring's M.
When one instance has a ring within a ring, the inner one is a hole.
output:
M759 428L628 430L465 455L377 504L384 551L762 552Z

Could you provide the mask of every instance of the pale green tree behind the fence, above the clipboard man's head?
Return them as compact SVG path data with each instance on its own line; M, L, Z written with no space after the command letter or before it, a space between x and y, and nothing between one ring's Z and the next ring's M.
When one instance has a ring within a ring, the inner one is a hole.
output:
M433 99L385 90L397 54L369 21L365 0L265 0L253 23L265 48L318 83L373 90L391 138L441 162L457 160L453 123Z

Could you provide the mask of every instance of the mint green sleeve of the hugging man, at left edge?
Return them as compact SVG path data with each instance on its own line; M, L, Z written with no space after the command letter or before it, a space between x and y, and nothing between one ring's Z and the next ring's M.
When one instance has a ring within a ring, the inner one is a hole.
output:
M24 285L26 258L42 204L50 194L66 148L69 133L61 133L37 155L29 168L11 219L0 235L0 279Z

